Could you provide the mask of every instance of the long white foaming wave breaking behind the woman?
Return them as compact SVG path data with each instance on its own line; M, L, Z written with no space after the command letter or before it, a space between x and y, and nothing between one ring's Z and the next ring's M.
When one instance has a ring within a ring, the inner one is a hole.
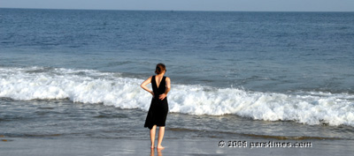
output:
M0 67L0 97L69 99L147 111L151 96L140 88L142 81L93 70ZM175 113L235 114L255 120L354 126L354 95L348 93L260 93L174 84L168 100L170 112Z

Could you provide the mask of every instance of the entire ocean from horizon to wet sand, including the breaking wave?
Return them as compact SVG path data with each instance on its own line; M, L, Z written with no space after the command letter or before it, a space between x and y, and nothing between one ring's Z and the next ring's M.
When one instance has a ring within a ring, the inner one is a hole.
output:
M0 9L0 135L354 139L354 13ZM217 144L216 144L217 145Z

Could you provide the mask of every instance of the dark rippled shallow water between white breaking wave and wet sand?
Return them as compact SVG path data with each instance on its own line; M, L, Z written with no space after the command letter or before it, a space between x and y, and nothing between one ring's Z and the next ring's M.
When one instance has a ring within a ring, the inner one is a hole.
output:
M121 109L70 100L1 99L0 122L6 137L135 138L148 137L140 109ZM14 104L15 103L15 104ZM237 115L167 116L165 138L354 139L350 126L267 122Z

